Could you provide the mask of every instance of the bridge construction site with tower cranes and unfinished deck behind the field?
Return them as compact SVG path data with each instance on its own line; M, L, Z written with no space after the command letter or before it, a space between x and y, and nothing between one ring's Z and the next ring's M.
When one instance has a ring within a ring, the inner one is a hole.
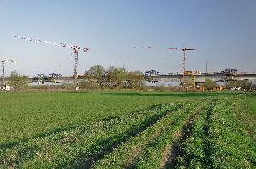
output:
M50 41L42 41L40 39L32 38L32 37L22 37L20 35L15 36L18 39L26 40L29 42L37 42L37 43L45 43L48 45L53 45L55 47L62 48L70 48L72 53L71 55L74 57L74 65L73 65L73 75L72 76L62 76L61 73L50 73L49 75L44 75L42 73L38 73L33 77L27 78L27 83L31 85L61 85L63 83L73 83L73 90L79 90L79 82L85 79L84 75L78 74L78 64L79 64L79 51L81 50L84 53L87 53L90 48L81 48L78 45L70 45L62 42L50 42ZM134 47L137 48L137 47ZM154 50L156 48L152 46L142 47L146 50ZM236 81L249 81L255 82L256 74L254 73L239 73L237 69L226 68L224 70L220 70L219 72L207 72L207 60L205 65L205 72L201 72L198 70L192 71L187 70L186 65L186 57L188 52L193 52L196 48L162 48L163 50L180 50L182 52L182 70L181 73L169 73L162 74L156 70L148 70L144 73L144 80L148 86L157 86L157 85L166 85L166 86L178 86L180 90L190 91L190 90L198 90L205 91L205 87L203 87L206 80L211 80L212 82L217 82L219 85L212 88L214 91L223 90L224 83L236 82ZM5 76L5 66L6 64L17 64L15 60L12 59L2 59L2 77L0 87L2 90L12 90L12 87L7 85L9 82L9 76ZM199 68L201 69L201 68ZM125 71L124 67L123 70ZM105 77L102 75L102 79ZM148 83L149 82L149 83ZM151 83L151 84L150 84ZM154 84L154 85L152 85ZM239 90L241 87L237 87ZM253 89L252 89L253 90Z

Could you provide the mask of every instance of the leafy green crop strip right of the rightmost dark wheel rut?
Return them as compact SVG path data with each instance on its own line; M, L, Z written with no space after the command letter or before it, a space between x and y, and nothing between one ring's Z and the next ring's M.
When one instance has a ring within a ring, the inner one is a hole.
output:
M244 96L219 100L212 109L211 133L212 167L255 168L256 144L238 117L246 114ZM243 121L246 123L246 121Z

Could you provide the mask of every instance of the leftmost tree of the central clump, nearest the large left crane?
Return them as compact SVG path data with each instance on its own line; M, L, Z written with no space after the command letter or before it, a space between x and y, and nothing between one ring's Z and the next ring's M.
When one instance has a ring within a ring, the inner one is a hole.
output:
M102 65L95 65L91 67L90 70L85 71L84 76L88 80L96 82L98 85L102 86L104 71L105 69Z

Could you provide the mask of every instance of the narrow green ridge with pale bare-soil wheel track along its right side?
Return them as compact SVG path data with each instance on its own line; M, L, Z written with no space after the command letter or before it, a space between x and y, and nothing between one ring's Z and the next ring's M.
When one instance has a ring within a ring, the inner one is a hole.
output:
M160 135L153 144L148 146L148 149L141 156L137 163L137 168L165 168L169 162L176 156L176 141L183 137L189 123L193 122L198 114L201 113L207 106L209 101L201 101L192 109L184 112L174 126L170 126L166 133Z

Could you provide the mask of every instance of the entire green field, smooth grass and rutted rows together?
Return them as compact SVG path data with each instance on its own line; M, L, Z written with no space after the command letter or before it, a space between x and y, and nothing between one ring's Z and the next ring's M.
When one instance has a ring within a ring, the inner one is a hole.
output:
M253 93L0 93L0 168L256 168Z

